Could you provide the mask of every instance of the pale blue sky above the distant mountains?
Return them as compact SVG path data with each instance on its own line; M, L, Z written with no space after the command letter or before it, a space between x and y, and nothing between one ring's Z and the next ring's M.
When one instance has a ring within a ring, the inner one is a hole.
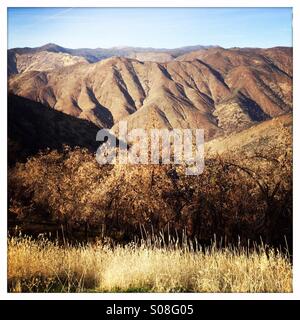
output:
M8 47L292 46L291 8L9 8Z

